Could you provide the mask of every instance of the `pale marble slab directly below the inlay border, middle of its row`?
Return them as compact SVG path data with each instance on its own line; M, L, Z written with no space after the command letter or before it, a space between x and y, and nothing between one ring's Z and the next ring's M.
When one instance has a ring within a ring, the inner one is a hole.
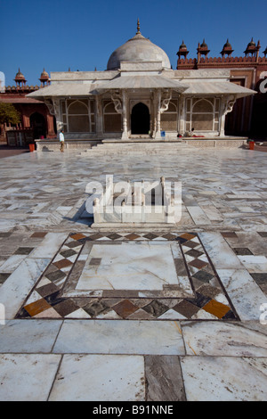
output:
M65 320L53 352L181 355L184 346L177 322Z

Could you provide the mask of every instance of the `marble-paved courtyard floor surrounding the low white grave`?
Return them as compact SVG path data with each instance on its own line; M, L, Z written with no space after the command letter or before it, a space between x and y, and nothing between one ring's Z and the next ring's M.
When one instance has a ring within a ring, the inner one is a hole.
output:
M0 399L266 400L265 153L105 150L1 159ZM181 221L93 229L110 175L181 181Z

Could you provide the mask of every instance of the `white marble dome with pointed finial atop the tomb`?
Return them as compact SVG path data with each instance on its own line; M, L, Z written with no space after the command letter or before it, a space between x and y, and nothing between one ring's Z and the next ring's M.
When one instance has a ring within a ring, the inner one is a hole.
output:
M111 53L107 70L118 70L121 62L162 62L162 68L170 69L170 60L163 49L143 37L139 26L137 29L134 37Z

